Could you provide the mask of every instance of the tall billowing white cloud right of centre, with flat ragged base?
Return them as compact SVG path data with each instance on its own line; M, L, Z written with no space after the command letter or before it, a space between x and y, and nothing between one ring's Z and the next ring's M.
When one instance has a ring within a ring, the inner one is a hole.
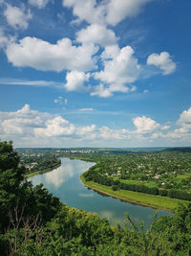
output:
M113 49L114 51L112 51ZM110 97L113 92L124 93L135 90L135 86L127 86L129 83L137 81L140 72L138 59L134 58L133 54L134 51L130 46L122 49L119 49L117 45L106 47L102 54L104 69L95 73L95 79L109 85L99 84L92 96Z

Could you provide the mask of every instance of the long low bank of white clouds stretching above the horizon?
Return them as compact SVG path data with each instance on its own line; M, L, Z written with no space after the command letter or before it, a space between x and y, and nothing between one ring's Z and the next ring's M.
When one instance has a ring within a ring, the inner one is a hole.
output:
M125 147L125 143L131 145L144 145L144 143L159 141L163 139L187 145L191 139L191 108L180 114L176 128L166 133L169 126L162 126L155 120L138 116L134 118L135 129L109 128L107 126L97 127L96 125L74 125L60 115L49 114L32 110L30 105L24 105L14 112L0 111L0 137L5 140L13 140L19 147L67 147L89 145L104 145L107 142L114 147L118 145ZM85 144L84 144L85 143ZM119 144L120 143L120 144ZM143 144L141 144L143 143ZM133 147L132 146L132 147Z

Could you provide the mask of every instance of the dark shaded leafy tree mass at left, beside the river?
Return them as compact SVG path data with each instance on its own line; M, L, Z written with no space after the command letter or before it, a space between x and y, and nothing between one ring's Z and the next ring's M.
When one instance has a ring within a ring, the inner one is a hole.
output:
M58 198L54 198L42 185L32 187L25 179L26 169L19 165L17 152L12 142L0 142L0 231L3 233L10 224L9 214L17 209L17 214L31 216L38 214L43 221L50 221L60 207Z

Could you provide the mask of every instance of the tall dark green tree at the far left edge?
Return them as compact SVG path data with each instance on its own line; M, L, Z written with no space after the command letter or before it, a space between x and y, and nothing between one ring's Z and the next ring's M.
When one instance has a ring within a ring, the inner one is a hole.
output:
M25 168L19 166L18 154L12 142L0 142L0 230L8 224L8 212L19 205L24 185Z

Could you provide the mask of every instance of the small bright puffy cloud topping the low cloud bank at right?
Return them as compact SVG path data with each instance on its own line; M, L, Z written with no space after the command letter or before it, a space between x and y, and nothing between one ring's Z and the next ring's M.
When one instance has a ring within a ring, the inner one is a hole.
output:
M160 125L155 120L145 116L134 118L133 123L140 134L152 133L160 128Z

